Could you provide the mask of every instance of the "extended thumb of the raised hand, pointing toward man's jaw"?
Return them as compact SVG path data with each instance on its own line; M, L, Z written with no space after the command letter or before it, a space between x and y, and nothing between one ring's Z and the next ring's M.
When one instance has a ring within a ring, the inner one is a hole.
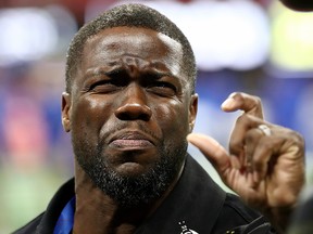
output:
M218 173L229 168L230 160L226 150L213 138L201 133L190 133L187 135L187 141L202 152Z

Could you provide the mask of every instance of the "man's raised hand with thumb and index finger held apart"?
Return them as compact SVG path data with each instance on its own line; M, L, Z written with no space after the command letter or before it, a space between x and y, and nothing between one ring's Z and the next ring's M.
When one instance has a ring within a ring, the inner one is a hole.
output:
M222 109L243 110L230 135L229 152L204 134L191 133L187 140L227 186L283 231L304 184L304 141L296 131L264 121L258 96L233 93Z

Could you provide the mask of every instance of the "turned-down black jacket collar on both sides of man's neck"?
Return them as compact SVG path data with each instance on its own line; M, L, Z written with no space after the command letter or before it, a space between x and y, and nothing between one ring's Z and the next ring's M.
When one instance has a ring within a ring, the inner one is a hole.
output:
M37 234L53 233L64 206L75 196L74 178L63 184L50 202ZM190 156L176 186L136 234L210 233L222 210L226 193ZM161 229L161 230L160 230Z

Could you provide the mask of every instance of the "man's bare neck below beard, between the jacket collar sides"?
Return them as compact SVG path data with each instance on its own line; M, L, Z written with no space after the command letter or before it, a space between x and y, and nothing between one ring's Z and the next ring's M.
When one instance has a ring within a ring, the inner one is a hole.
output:
M130 234L162 204L177 183L183 171L177 174L165 193L149 204L133 208L118 206L114 199L98 188L85 171L75 165L76 210L73 233Z

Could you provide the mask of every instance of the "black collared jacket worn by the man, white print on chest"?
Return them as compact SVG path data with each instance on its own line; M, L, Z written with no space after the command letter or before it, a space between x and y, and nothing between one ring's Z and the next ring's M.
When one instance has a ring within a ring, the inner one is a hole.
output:
M43 213L14 234L52 234L62 209L74 195L72 179L61 186ZM270 234L272 230L264 218L246 207L238 196L225 193L188 156L177 185L135 234L180 233Z

